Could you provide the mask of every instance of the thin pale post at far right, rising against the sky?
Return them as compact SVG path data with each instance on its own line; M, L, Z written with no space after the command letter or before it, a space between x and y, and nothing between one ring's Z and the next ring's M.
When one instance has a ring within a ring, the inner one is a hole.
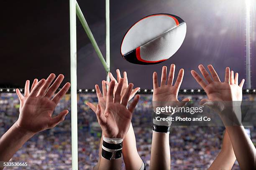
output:
M246 2L246 88L251 89L251 35L250 35L250 9L251 0Z

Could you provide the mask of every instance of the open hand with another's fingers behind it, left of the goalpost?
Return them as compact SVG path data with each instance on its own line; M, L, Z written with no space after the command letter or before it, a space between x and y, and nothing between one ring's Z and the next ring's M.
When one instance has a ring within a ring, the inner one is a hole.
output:
M55 75L51 74L47 80L40 80L32 88L30 93L28 92L29 85L27 85L25 96L22 96L19 90L16 90L20 98L20 102L23 102L19 118L17 122L15 122L18 127L31 133L38 133L40 131L53 128L64 120L68 110L63 110L55 117L52 117L52 113L54 112L56 105L59 103L59 100L61 100L69 89L70 83L67 82L64 87L62 87L62 89L51 99L54 92L64 79L64 76L59 75L55 82L51 85L54 78ZM49 87L50 85L51 87Z

